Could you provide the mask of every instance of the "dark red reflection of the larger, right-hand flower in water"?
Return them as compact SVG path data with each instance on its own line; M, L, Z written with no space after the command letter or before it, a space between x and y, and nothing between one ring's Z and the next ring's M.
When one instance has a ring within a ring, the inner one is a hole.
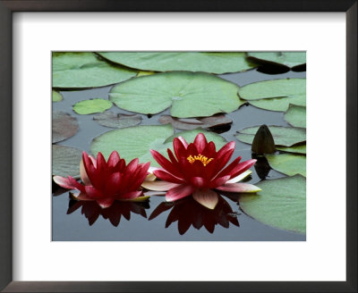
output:
M200 205L193 197L184 197L175 202L163 202L150 214L149 221L170 209L166 218L166 228L177 221L180 235L189 230L191 225L197 230L204 226L210 233L214 232L217 224L226 229L229 228L230 222L237 227L240 226L233 209L220 196L217 197L217 205L214 209Z

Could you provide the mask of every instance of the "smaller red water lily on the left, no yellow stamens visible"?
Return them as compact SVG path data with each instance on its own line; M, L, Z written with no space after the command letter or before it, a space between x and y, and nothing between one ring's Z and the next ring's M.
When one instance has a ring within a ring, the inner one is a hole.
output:
M95 200L103 208L111 206L115 200L141 201L141 183L148 174L150 163L138 163L133 159L128 165L116 151L109 155L106 162L104 156L98 152L97 160L83 152L80 166L81 180L84 185L74 180L54 176L54 181L62 188L80 191L78 200Z

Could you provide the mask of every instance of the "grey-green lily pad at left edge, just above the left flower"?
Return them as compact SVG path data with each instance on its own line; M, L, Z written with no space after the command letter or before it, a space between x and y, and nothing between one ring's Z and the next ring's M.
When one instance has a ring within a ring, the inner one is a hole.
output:
M52 145L52 174L80 178L81 159L78 148Z

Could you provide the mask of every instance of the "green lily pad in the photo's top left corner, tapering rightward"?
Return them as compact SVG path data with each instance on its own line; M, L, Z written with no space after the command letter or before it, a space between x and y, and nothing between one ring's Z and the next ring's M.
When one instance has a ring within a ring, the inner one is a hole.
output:
M137 71L100 60L90 52L54 53L52 56L53 88L95 88L131 79Z

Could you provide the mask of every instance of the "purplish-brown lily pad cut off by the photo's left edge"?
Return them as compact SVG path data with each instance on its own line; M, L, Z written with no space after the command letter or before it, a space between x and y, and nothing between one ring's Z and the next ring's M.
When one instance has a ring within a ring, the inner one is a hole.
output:
M74 136L79 130L79 123L75 117L63 111L52 113L52 143Z

